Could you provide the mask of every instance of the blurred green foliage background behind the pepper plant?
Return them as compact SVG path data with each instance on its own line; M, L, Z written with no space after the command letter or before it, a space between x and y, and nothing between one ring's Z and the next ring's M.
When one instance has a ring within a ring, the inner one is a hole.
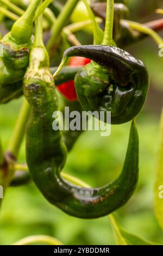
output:
M146 22L159 19L156 8L161 0L131 0L130 19ZM1 32L4 28L1 26ZM92 42L90 33L77 34L80 41ZM163 36L163 34L162 34ZM140 178L137 189L120 210L118 222L131 233L163 243L163 233L153 209L153 186L158 149L159 117L163 99L163 59L158 57L158 46L145 39L127 49L145 62L151 79L146 105L136 118L140 136ZM56 58L57 65L60 59ZM0 106L0 131L7 146L22 99ZM68 155L64 172L76 176L91 186L101 186L121 172L126 154L130 123L111 127L111 136L101 137L98 131L86 131ZM18 161L26 161L24 142ZM50 235L65 245L115 244L108 216L98 220L80 220L66 215L50 205L33 183L9 187L3 200L0 219L0 244L6 245L29 235Z

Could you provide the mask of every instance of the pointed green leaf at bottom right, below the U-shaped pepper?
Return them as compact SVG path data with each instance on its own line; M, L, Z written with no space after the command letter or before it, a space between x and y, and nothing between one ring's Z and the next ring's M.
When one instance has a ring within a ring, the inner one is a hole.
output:
M124 230L116 221L114 215L109 215L112 229L116 237L117 245L159 245L159 243L151 242L141 237L131 234Z

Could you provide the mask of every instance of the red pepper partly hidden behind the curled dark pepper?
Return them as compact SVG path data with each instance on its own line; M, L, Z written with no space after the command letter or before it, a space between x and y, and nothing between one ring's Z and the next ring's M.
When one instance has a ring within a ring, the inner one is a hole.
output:
M84 57L72 57L70 59L69 65L70 66L85 66L86 64L90 63L91 59L87 59ZM58 90L62 95L66 97L66 99L73 101L78 100L76 89L74 87L74 80L68 81L66 83L60 84Z

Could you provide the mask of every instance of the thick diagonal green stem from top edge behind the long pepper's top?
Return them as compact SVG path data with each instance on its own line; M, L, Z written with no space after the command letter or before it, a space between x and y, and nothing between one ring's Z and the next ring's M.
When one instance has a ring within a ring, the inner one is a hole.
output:
M47 43L47 50L50 54L52 54L53 46L55 42L58 40L58 36L61 33L62 28L65 26L66 21L70 17L72 11L76 7L79 0L67 0L64 8L62 9L61 13L59 14L55 26L52 29L52 36Z

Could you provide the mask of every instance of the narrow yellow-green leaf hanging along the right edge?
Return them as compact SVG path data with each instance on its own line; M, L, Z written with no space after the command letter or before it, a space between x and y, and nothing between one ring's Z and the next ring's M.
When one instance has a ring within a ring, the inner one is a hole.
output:
M159 225L163 229L163 108L160 119L159 151L154 185L154 210Z

